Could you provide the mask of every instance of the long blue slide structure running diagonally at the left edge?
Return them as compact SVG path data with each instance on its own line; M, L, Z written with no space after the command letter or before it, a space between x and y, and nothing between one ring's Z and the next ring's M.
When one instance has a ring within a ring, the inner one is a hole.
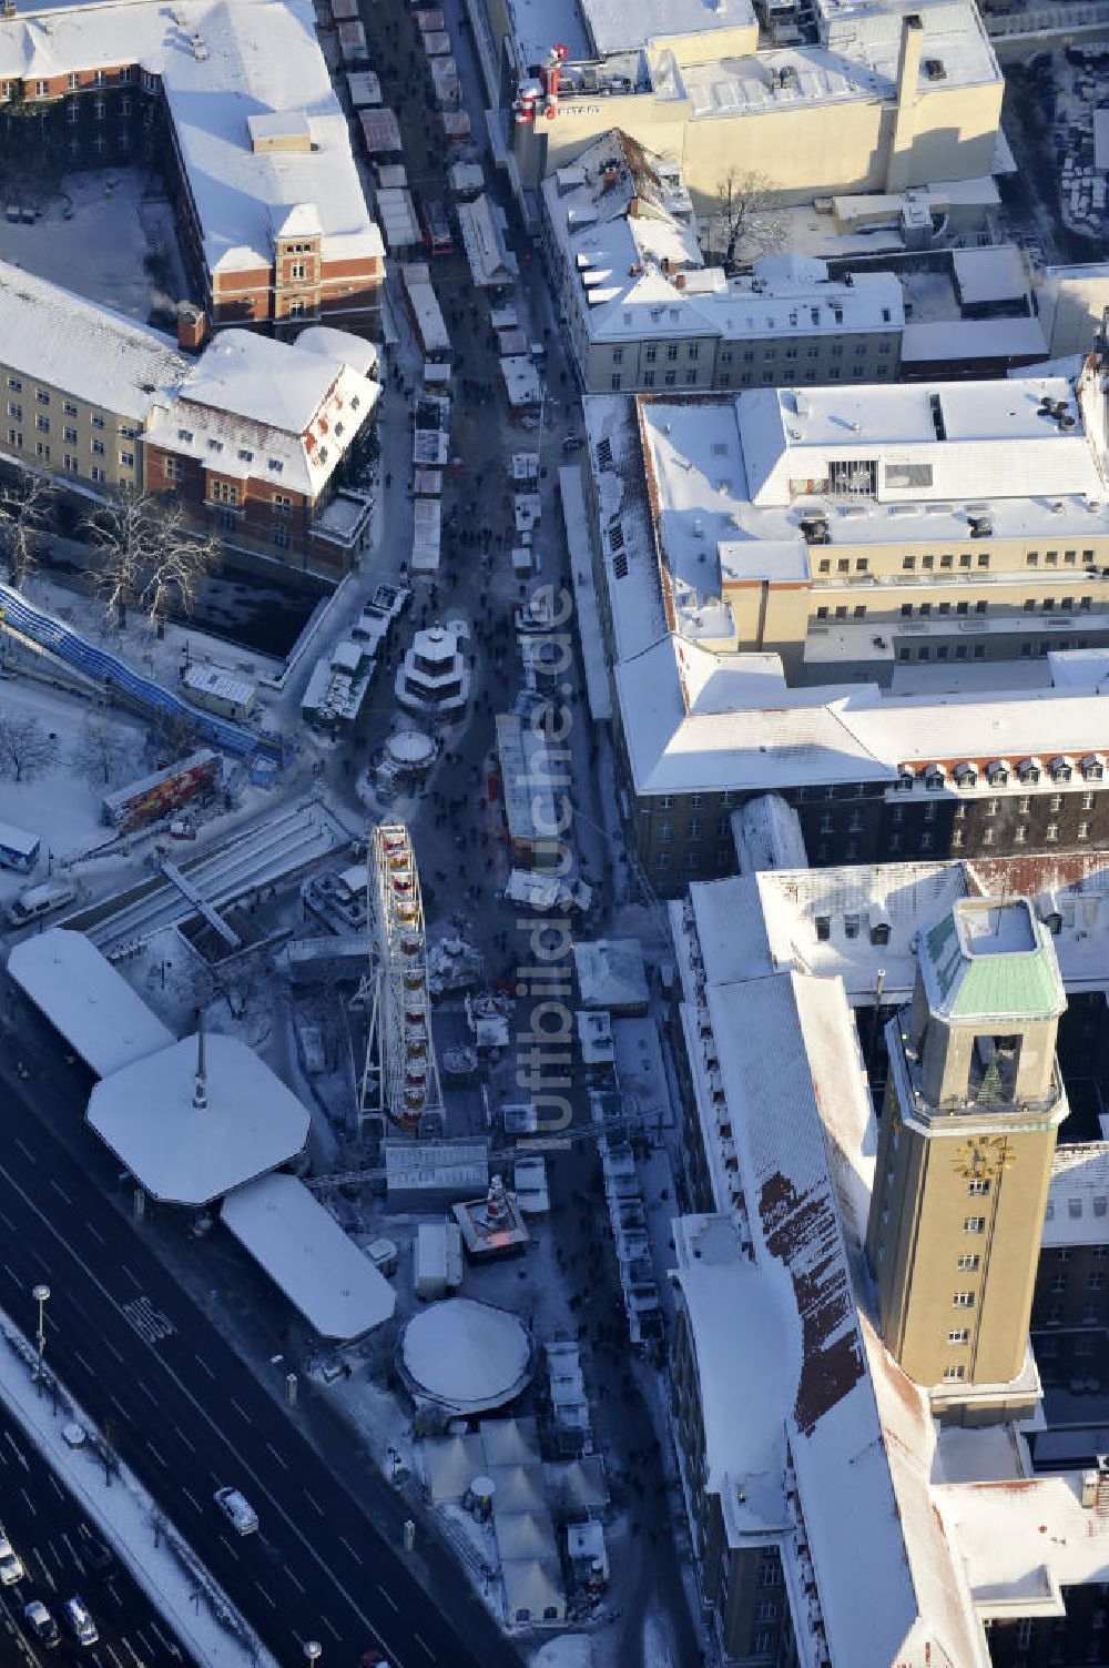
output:
M188 701L182 701L172 689L135 672L127 661L98 649L72 631L63 620L37 609L33 602L22 597L18 590L0 584L0 627L18 632L37 642L40 649L57 654L60 661L77 667L87 677L103 684L118 697L123 706L138 707L150 717L163 716L183 719L197 736L223 752L243 754L245 757L262 756L273 759L279 767L289 759L289 747L280 736L263 736L242 724L217 717L215 712L202 712Z

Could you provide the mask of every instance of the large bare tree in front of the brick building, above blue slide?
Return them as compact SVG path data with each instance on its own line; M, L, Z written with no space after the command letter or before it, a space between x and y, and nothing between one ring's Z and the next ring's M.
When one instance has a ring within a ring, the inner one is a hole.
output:
M172 609L187 617L220 560L220 540L193 534L180 504L138 487L118 487L87 519L85 530L100 552L97 589L120 626L128 607L158 627Z

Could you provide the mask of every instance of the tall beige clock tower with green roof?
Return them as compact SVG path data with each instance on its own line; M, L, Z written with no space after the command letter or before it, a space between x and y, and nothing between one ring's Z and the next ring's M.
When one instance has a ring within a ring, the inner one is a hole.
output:
M1027 899L961 899L921 934L912 1002L887 1027L867 1256L887 1349L949 1418L1037 1394L1027 1328L1067 1114L1064 1009Z

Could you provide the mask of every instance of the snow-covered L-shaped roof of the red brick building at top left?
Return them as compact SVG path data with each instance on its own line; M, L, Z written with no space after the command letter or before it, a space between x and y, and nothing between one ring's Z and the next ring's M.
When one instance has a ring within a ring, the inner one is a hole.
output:
M158 75L210 270L268 267L273 235L302 208L324 257L384 257L347 118L332 88L309 0L178 0L22 13L0 32L0 77L138 63ZM253 150L250 118L299 120L304 148Z

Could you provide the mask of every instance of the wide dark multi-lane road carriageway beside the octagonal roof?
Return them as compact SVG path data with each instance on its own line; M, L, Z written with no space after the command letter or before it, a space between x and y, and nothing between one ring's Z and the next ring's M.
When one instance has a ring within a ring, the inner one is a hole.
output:
M404 1503L354 1448L342 1476L322 1463L37 1116L30 1096L57 1103L57 1078L20 1083L15 1054L0 1044L0 1306L32 1331L30 1289L50 1286L50 1366L277 1660L319 1640L324 1661L344 1665L379 1648L395 1668L519 1668L435 1548L422 1548L435 1588L424 1591L400 1550ZM237 1535L213 1503L222 1485L247 1495L257 1535Z

